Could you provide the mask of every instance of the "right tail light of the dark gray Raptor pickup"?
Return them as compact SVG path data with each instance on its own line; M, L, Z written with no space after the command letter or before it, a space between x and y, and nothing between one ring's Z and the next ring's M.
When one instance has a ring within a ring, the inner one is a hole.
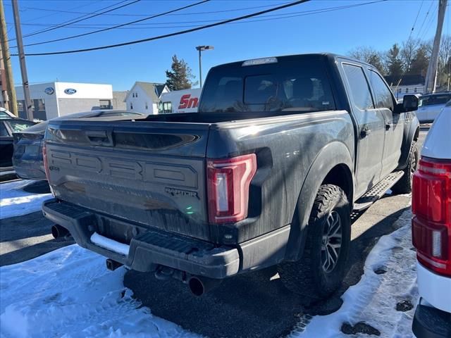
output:
M210 223L247 218L249 184L257 171L257 156L209 160L206 170Z

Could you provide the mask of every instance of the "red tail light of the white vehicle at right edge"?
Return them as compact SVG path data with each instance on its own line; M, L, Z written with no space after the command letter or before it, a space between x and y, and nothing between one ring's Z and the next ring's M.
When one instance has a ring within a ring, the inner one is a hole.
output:
M451 276L451 161L421 158L413 179L412 212L418 261Z

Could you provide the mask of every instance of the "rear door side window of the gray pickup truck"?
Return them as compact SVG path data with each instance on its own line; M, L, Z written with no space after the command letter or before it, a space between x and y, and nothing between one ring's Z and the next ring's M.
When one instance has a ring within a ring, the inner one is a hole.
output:
M354 106L361 111L373 109L373 99L369 90L368 81L366 81L365 73L362 67L358 65L349 65L343 63L343 69L350 85L352 101Z

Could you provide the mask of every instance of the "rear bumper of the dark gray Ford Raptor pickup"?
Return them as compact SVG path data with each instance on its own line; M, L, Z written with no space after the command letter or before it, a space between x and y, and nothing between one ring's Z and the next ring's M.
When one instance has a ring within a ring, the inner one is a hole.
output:
M42 205L44 216L66 227L82 247L123 263L132 270L148 272L157 265L185 271L191 275L222 279L246 270L278 263L285 255L290 227L284 227L240 246L216 246L192 237L121 220L133 234L128 255L105 249L91 241L99 232L102 216L87 208L51 199ZM285 242L285 243L284 243Z

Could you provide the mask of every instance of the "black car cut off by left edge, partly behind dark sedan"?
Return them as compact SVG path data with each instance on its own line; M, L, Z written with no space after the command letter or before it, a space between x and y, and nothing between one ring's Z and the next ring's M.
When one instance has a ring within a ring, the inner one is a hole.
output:
M4 111L1 111L4 113ZM13 132L20 132L36 123L22 118L0 118L0 167L13 165Z

